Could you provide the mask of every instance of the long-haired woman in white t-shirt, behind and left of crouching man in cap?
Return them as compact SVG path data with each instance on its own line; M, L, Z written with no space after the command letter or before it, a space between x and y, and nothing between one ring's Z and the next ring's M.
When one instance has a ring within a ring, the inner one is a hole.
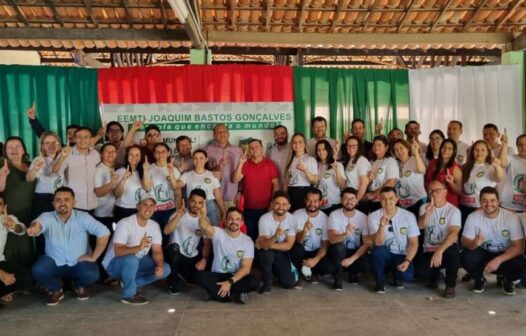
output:
M113 191L115 223L137 213L137 203L141 193L152 189L149 172L150 164L139 145L131 145L126 150L125 166L117 170L119 183Z

